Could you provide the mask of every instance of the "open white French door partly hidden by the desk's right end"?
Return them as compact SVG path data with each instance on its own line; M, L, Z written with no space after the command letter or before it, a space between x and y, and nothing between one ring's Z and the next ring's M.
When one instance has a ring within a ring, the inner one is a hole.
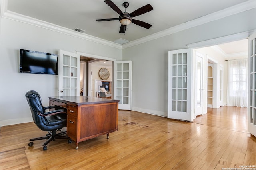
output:
M119 109L132 110L132 61L114 61L114 99Z

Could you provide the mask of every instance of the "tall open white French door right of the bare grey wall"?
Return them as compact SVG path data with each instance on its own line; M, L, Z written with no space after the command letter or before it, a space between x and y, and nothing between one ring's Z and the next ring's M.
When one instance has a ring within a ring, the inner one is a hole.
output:
M168 51L168 118L192 121L192 49Z

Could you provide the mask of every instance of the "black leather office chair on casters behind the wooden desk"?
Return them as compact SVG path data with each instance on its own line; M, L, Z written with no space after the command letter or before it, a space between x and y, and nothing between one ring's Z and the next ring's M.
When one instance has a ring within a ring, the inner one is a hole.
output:
M38 92L30 90L26 93L26 98L32 113L34 123L42 131L48 131L45 137L38 137L30 139L28 146L32 147L34 145L33 141L48 139L43 144L43 150L47 150L47 144L50 141L55 141L56 138L69 139L68 143L72 143L72 140L67 136L62 136L66 132L60 131L56 134L57 130L62 129L67 126L67 114L65 109L58 109L55 106L43 107L41 102L41 97ZM47 109L55 109L53 111L45 112Z

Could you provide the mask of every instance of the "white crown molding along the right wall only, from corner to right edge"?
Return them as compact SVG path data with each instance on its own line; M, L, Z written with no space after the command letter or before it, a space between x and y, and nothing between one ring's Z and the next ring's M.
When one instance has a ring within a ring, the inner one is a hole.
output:
M138 44L141 44L141 43L145 43L147 41L151 41L151 40L154 40L154 39L157 39L157 38L160 38L160 37L171 35L173 33L177 33L177 32L180 32L180 31L192 28L192 27L196 27L198 25L202 25L204 23L208 23L208 22L211 22L211 21L214 21L214 20L218 20L218 19L221 19L221 18L224 18L224 17L227 17L227 16L238 14L240 12L244 12L244 11L247 11L247 10L250 10L250 9L253 9L253 8L256 8L256 0L248 0L246 2L243 2L241 4L237 4L235 6L231 6L229 8L224 9L224 10L220 10L220 11L214 12L212 14L208 14L206 16L197 18L195 20L191 20L191 21L188 21L186 23L182 23L180 25L165 29L163 31L154 33L152 35L148 35L146 37L131 41L129 43L125 43L124 45L122 45L122 49L132 47L134 45L138 45Z

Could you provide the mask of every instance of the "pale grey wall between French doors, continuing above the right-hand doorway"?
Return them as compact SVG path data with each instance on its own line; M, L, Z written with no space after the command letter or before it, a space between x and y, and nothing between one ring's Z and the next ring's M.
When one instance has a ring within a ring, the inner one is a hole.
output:
M255 8L123 49L122 59L132 60L132 110L167 116L168 51L254 30L252 16Z

